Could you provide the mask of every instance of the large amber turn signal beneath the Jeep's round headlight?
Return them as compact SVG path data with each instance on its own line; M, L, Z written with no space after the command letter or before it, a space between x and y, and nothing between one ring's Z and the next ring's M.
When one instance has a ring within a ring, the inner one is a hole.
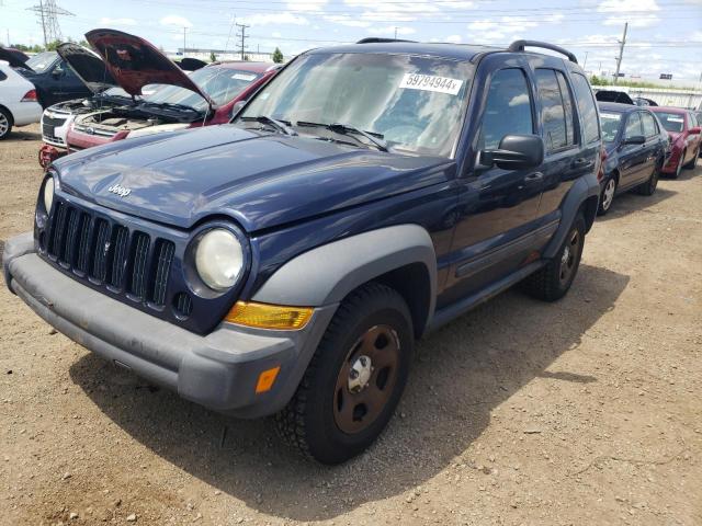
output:
M313 311L312 307L237 301L224 321L259 329L292 331L305 327L312 318Z

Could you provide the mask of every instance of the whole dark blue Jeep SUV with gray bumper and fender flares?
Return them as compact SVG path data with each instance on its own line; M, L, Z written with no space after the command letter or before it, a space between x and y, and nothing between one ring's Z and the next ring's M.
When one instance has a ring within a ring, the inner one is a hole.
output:
M369 38L296 57L230 124L56 161L4 277L107 361L337 464L422 334L519 282L566 294L600 163L569 52Z

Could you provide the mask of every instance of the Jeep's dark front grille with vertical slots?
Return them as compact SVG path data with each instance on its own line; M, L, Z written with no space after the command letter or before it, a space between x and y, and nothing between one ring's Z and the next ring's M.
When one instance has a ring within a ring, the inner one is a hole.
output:
M152 306L166 305L176 245L125 225L94 217L59 201L44 249L49 258L93 285Z

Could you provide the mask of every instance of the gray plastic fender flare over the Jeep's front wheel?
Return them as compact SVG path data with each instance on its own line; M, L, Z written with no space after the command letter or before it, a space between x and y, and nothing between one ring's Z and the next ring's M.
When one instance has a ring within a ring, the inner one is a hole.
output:
M437 254L429 232L418 225L371 230L304 252L275 271L252 299L306 307L338 304L360 285L412 263L422 263L429 274L430 320L437 298Z

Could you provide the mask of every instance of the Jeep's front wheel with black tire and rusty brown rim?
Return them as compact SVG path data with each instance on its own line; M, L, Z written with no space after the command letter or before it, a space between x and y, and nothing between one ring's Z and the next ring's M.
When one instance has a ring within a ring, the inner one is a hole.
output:
M389 332L378 332L386 328L390 328ZM381 356L376 363L383 362L383 356L389 356L382 353L392 346L393 356L397 357L395 365L371 368L365 387L354 392L351 389L351 362L355 359L354 364L358 364L365 357L366 353L359 355L359 350L366 348L366 335L373 339L376 333L385 338L386 343L384 346L381 342L378 346L380 340L371 341L372 347L378 350L377 356ZM386 338L386 334L392 338ZM370 283L351 293L329 323L297 391L275 416L281 436L304 455L322 464L340 464L362 453L383 432L395 412L407 384L414 344L411 316L397 291ZM348 380L344 379L347 370ZM340 381L343 387L340 387ZM358 401L364 396L364 389L385 397L375 404L376 411ZM361 411L356 411L359 408ZM349 415L352 419L343 420ZM366 418L367 421L363 422ZM344 432L344 425L359 428Z

